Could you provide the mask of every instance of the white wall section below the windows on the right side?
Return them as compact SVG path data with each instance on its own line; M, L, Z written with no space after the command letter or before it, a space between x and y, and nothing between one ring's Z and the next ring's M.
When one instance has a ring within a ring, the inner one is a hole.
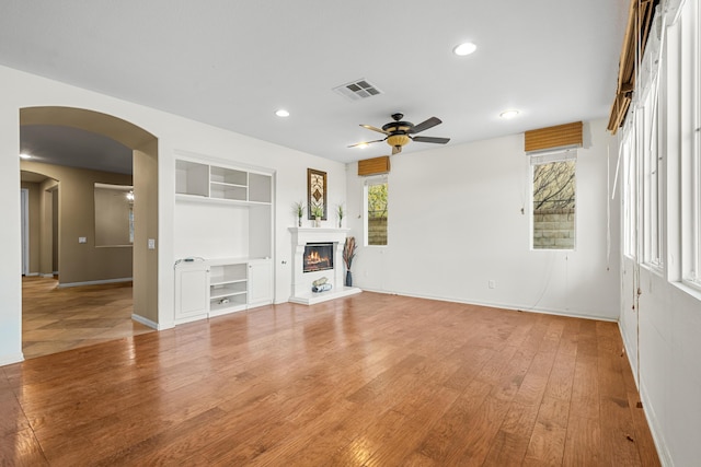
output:
M624 277L636 265L623 259ZM698 465L701 458L701 293L669 283L640 267L637 308L621 307L621 332L663 465ZM632 281L623 294L632 296ZM636 334L640 332L640 337ZM640 358L637 352L640 352ZM640 364L640 369L637 369Z

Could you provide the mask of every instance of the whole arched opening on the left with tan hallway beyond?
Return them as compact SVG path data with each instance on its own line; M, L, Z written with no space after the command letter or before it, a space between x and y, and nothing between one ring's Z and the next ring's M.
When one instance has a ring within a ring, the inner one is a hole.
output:
M32 229L33 225L36 229L38 223L32 220L39 214L36 212L39 205L33 205L32 194L27 194L27 258L26 266L23 266L25 276L23 278L23 347L25 347L25 336L32 336L34 339L39 335L50 336L51 329L64 326L59 322L66 316L59 316L58 310L66 312L71 307L78 314L73 314L65 323L68 328L74 326L76 329L83 329L76 335L90 334L84 329L90 329L90 326L95 324L90 319L95 317L97 310L122 308L124 314L124 305L127 302L131 303L126 311L127 319L124 323L113 320L115 327L119 327L123 331L131 327L133 331L138 331L131 335L157 328L158 252L156 248L148 248L149 243L156 243L158 237L158 140L156 137L120 118L73 107L23 108L20 110L20 126L21 152L30 154L34 152L32 160L21 162L22 176L24 177L25 173L38 173L44 178L56 182L53 189L38 190L38 196L46 197L42 199L44 209L39 210L44 229L38 240L39 234ZM38 144L41 141L36 139L38 138L36 135L42 132L53 136L51 152L54 153L59 152L60 144L66 144L69 140L76 143L77 138L85 143L110 141L112 144L118 144L127 150L131 174L128 177L124 174L105 175L111 173L110 164L114 163L111 159L110 143L105 143L104 151L95 150L88 157L91 163L103 164L105 168L101 168L100 165L83 167L76 157L71 161L61 161L60 164L64 165L60 167L50 164L50 160L57 154L53 154L51 157L48 157L46 152L42 154L41 144ZM89 173L92 174L90 178L95 178L90 183L90 190L82 183L85 174ZM94 183L120 183L126 178L134 187L133 209L129 209L134 226L131 232L134 243L123 245L120 250L118 247L97 246L94 242ZM51 209L48 208L49 201ZM24 237L23 235L23 240ZM123 259L125 255L128 260ZM126 266L119 269L119 262L128 264L128 269L125 269ZM53 295L44 293L47 290L54 291ZM67 303L70 303L70 306L65 303L55 308L54 315L37 318L35 323L27 325L25 317L30 318L30 316L28 313L25 316L25 310L33 310L30 313L35 313L36 307L33 306L35 303L50 301L51 297L56 297L57 303L68 300ZM85 300L81 302L81 297ZM110 302L112 300L110 297L114 299L114 303ZM42 319L46 323L46 327L38 326ZM81 327L82 325L85 327ZM106 336L124 337L114 329L105 330L104 327L99 329L101 331L95 332L94 336L88 336L89 339L76 339L76 346L91 343L91 339L105 340ZM62 335L69 334L66 330ZM45 347L50 348L48 345ZM61 346L57 346L57 349L67 350ZM35 357L34 352L25 353L25 358L31 357Z

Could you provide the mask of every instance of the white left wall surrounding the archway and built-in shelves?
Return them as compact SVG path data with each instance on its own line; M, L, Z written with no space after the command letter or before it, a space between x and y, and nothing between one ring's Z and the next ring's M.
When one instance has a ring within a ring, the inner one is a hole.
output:
M0 199L2 213L10 220L8 225L12 225L0 232L4 253L4 260L0 262L0 364L22 359L19 118L23 107L66 106L101 112L137 125L158 138L160 328L173 325L176 150L275 171L276 302L285 302L290 295L291 237L287 227L296 225L291 203L304 199L307 168L327 173L331 207L345 199L344 164L5 67L0 67ZM271 112L272 128L281 125L275 118ZM325 226L333 224L333 218L324 221Z

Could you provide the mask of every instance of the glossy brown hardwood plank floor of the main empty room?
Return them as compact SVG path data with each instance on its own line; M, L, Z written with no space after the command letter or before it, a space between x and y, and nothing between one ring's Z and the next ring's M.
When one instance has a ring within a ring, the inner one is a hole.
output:
M364 292L0 369L0 465L656 466L618 327Z

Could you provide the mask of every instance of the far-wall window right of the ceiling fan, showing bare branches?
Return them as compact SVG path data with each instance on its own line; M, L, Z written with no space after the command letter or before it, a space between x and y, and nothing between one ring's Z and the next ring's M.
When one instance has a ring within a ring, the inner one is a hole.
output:
M532 155L533 249L574 249L576 151Z

